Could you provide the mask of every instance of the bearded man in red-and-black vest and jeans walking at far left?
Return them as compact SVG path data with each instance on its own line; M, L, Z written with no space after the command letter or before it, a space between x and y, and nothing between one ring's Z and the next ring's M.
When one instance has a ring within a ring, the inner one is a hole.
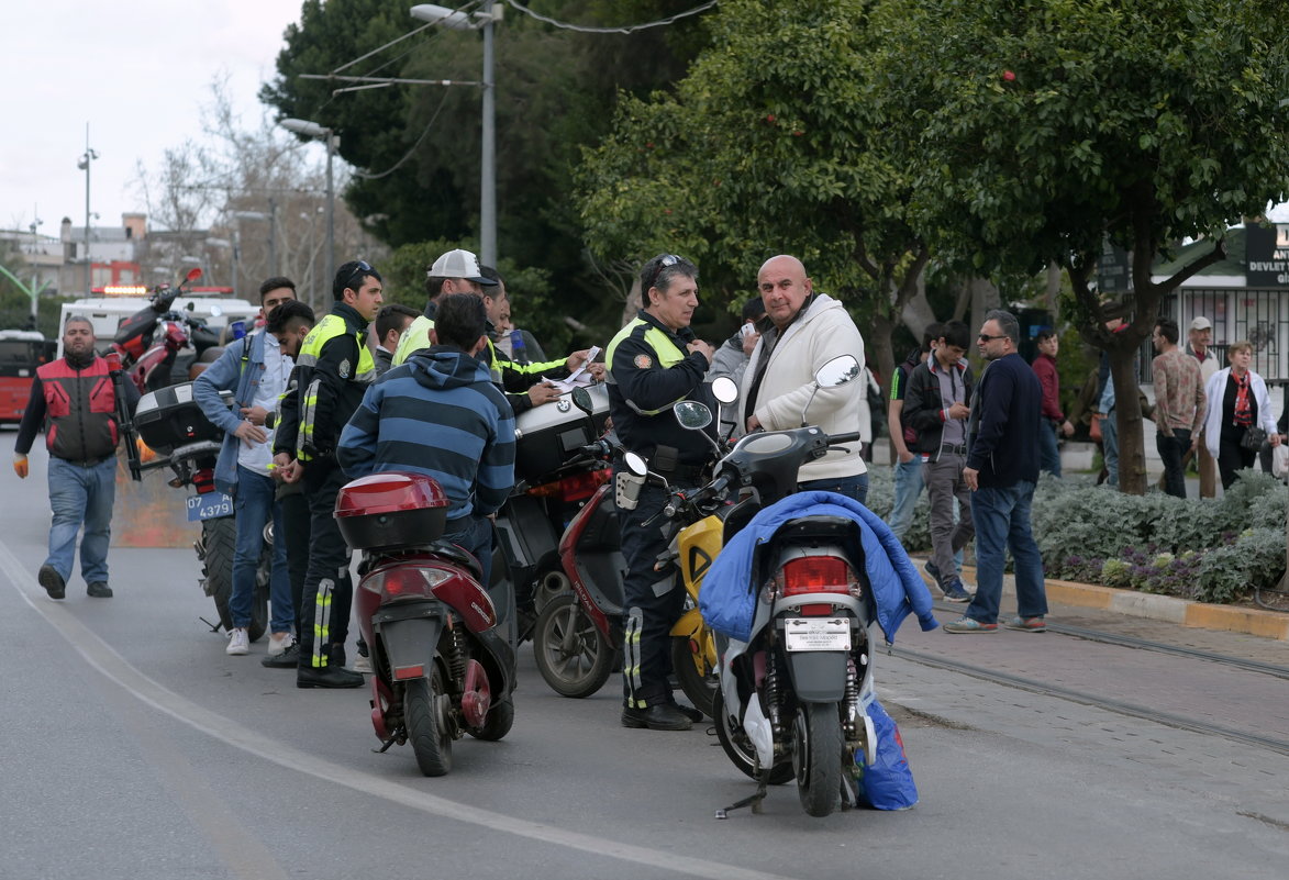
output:
M126 406L139 402L134 383L122 383ZM31 398L18 425L13 469L27 477L27 452L45 424L49 447L49 557L36 580L50 599L62 599L81 540L81 577L90 597L107 599L107 546L111 542L112 504L116 501L116 388L107 362L94 353L94 325L71 316L63 325L63 357L36 370Z

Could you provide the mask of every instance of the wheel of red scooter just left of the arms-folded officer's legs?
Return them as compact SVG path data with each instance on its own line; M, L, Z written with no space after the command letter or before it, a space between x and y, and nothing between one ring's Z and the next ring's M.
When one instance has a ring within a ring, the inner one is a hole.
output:
M589 697L621 665L620 653L571 593L557 595L538 615L532 655L541 678L562 697Z

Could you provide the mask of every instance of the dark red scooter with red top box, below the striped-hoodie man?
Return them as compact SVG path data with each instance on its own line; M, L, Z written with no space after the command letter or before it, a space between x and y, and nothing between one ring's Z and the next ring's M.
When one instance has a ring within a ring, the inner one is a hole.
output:
M345 484L335 502L344 540L366 553L356 594L378 751L410 741L425 776L451 770L464 733L500 740L514 723L513 594L503 581L490 597L474 557L441 540L447 506L434 479L398 470Z

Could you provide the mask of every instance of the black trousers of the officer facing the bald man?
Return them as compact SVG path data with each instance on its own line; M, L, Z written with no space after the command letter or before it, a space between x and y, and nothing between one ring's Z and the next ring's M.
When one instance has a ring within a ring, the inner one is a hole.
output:
M623 698L628 709L647 709L672 701L672 626L684 607L679 571L668 566L654 571L657 554L666 549L666 519L647 519L666 504L656 486L641 488L634 510L619 510L621 550L626 559L623 581Z

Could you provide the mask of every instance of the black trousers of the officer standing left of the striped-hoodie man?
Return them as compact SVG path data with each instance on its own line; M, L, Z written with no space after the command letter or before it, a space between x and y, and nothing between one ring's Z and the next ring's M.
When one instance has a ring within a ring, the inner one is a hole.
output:
M309 501L309 568L300 597L300 666L326 666L331 646L349 634L353 581L349 546L335 524L335 496L349 482L339 465L313 463L304 468L304 496Z

